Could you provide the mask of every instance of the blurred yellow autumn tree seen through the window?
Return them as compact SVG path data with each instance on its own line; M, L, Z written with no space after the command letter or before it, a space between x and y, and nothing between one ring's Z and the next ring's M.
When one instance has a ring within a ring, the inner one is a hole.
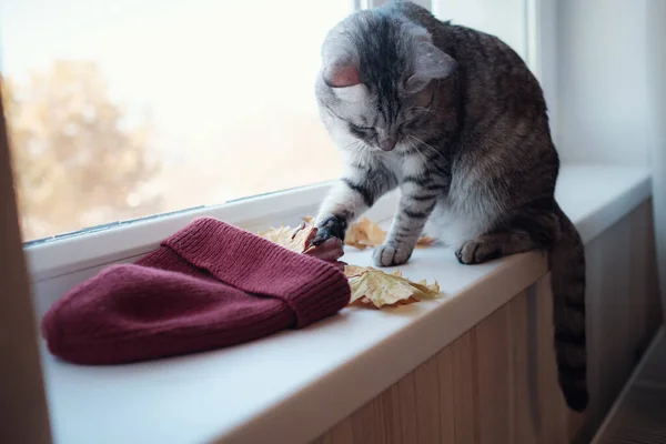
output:
M123 128L93 62L58 61L2 83L23 235L43 238L160 212L148 119Z

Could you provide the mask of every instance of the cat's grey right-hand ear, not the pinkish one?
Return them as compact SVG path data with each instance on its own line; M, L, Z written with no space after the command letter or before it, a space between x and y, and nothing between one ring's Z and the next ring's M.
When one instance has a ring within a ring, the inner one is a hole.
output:
M415 93L434 79L445 79L457 69L453 57L428 41L418 42L414 54L413 74L405 82L405 90Z

